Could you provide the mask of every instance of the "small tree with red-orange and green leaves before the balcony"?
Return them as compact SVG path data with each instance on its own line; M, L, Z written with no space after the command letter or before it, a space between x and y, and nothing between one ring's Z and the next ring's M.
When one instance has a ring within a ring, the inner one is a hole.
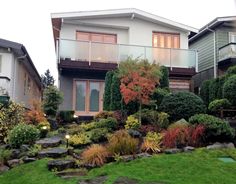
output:
M141 122L142 105L149 104L150 96L159 84L160 69L147 60L132 60L121 62L119 66L120 91L126 104L131 101L139 103L139 121Z

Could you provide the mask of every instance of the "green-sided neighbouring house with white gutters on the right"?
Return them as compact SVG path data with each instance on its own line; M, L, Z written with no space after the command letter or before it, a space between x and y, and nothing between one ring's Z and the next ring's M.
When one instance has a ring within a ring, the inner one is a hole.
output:
M202 81L236 64L236 16L214 19L189 39L189 47L198 51L199 73L193 77L198 92Z

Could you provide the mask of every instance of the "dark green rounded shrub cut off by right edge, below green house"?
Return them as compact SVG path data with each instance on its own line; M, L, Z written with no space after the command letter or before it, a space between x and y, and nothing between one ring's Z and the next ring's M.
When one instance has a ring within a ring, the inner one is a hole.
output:
M223 86L223 96L224 98L227 98L229 102L236 106L236 75L232 75L229 77Z

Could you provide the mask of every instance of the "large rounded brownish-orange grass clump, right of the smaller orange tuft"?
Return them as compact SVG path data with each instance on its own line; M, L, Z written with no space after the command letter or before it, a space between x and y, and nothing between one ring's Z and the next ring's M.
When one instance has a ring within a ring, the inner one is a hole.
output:
M138 141L132 138L126 130L116 131L108 139L108 150L112 155L127 155L137 152Z

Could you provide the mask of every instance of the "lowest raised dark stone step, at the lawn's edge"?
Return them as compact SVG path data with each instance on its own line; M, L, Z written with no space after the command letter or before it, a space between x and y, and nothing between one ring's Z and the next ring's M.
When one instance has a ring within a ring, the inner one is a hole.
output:
M48 169L56 169L57 171L63 171L68 168L74 168L75 161L74 160L50 160L48 162Z

